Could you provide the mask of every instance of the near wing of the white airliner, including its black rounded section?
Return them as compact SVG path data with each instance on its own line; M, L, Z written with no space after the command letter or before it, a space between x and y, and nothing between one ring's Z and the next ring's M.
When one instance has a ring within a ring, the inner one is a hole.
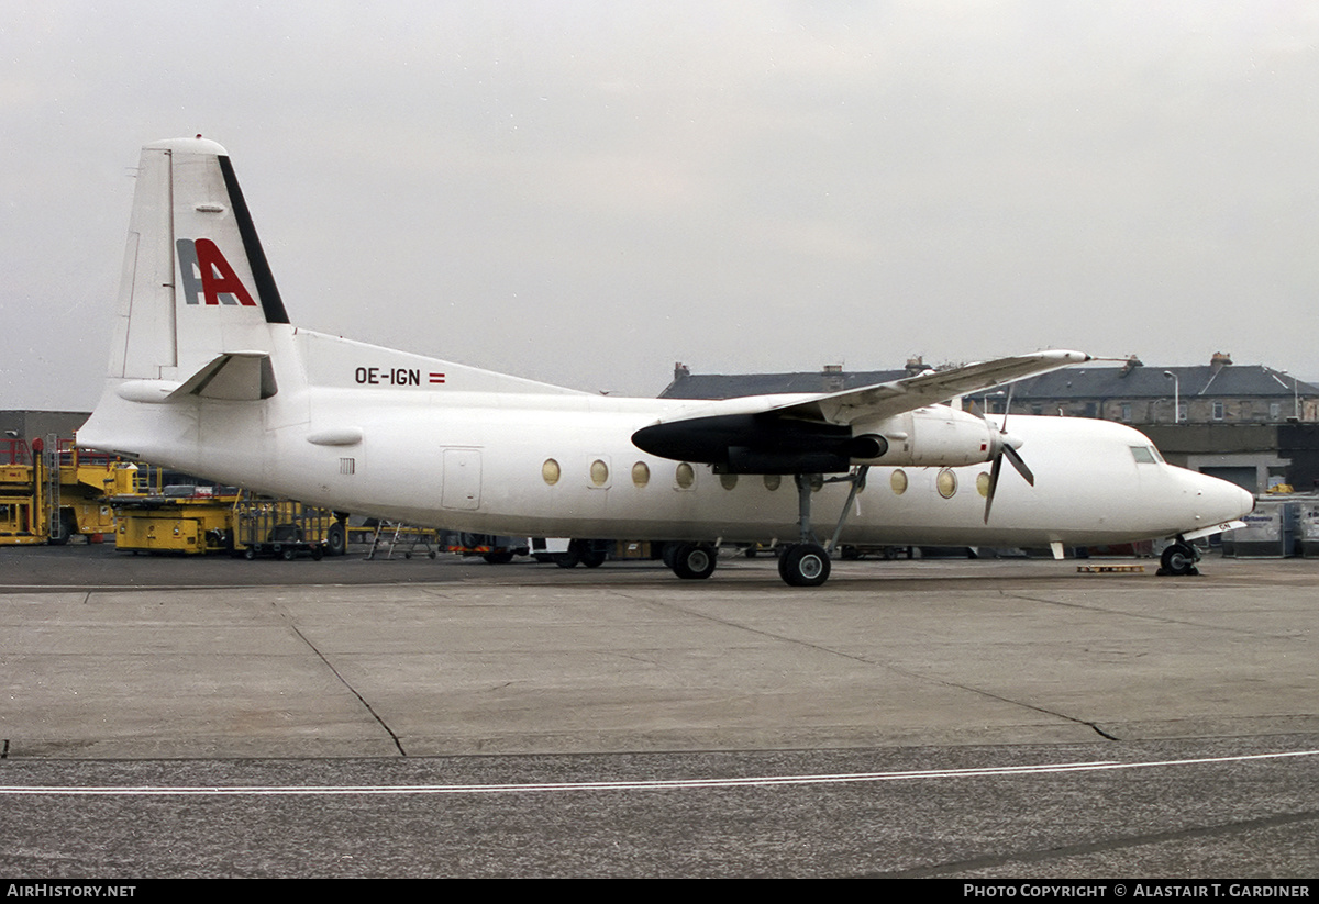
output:
M1034 352L840 393L711 402L642 427L632 441L652 455L702 461L720 472L838 473L852 459L874 455L873 447L853 436L856 423L877 423L1089 360L1082 352Z

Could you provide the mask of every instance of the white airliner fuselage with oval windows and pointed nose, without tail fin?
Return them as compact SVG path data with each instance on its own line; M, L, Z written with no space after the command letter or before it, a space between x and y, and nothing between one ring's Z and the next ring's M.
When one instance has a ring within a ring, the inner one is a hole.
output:
M96 444L342 511L452 530L795 539L791 477L719 474L628 441L690 407L587 394L313 386L264 402L124 405L115 418L124 443ZM1173 535L1249 509L1248 494L1231 485L1149 453L1138 461L1133 449L1153 444L1129 427L1026 415L1013 415L1010 427L1037 481L1028 486L1005 476L988 524L981 521L988 464L874 466L842 542L1086 546ZM832 532L847 492L826 482L814 494L818 532Z

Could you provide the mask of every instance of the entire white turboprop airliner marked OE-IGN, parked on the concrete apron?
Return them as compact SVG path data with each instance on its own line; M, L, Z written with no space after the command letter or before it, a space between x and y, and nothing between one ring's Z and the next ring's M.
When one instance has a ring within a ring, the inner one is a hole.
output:
M1248 493L1166 464L1121 424L1013 415L1009 434L1006 418L940 405L1086 360L1037 352L842 393L691 402L326 336L289 323L226 150L179 138L142 149L109 377L78 439L413 524L667 540L679 577L708 577L720 542L774 540L798 586L824 582L838 543L1060 555L1177 538L1163 565L1190 572L1188 540L1239 526ZM1005 457L1024 480L1000 490Z

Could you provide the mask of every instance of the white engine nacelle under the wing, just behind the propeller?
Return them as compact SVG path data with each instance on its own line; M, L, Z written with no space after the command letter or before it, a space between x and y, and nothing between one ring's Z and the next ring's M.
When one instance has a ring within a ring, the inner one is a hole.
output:
M861 447L863 441L873 441ZM853 426L853 464L959 468L991 461L1002 434L988 420L944 405L917 409L888 420Z

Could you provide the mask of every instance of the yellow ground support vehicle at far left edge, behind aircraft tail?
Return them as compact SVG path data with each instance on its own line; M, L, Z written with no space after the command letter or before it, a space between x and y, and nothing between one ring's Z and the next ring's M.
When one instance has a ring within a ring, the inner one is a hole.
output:
M111 534L109 498L132 492L137 466L47 438L32 447L0 438L0 544L67 543L74 534Z

